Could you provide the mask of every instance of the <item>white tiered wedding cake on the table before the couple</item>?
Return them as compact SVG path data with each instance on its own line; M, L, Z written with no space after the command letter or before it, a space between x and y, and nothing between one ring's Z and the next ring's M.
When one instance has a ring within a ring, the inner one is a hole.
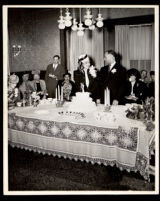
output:
M89 92L77 92L76 96L72 97L68 110L73 112L92 112L96 110L96 104L89 97Z

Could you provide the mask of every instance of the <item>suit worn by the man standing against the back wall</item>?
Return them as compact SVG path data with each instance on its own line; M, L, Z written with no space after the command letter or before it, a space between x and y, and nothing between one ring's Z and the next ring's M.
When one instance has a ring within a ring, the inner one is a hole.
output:
M65 70L63 69L63 67L60 64L58 64L56 69L53 68L53 64L49 64L47 66L46 74L45 74L45 81L46 81L48 97L51 97L51 98L55 97L55 90L56 90L58 80L63 79L64 73L65 73ZM57 76L57 79L49 77L49 74L54 74L55 76Z

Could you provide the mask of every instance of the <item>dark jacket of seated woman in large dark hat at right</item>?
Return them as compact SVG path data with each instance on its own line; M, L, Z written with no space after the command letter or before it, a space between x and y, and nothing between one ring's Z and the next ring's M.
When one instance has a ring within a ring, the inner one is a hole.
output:
M125 87L125 96L129 96L131 94L132 86L131 82L126 82ZM138 98L137 101L132 101L141 104L147 97L147 85L142 81L136 81L133 86L133 93ZM130 103L130 100L125 99L125 103Z

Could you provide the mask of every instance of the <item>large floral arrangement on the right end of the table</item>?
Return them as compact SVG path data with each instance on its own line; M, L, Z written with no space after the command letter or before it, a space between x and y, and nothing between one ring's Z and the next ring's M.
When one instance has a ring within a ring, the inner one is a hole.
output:
M142 105L132 104L127 109L126 117L130 119L141 120L146 125L146 130L152 131L154 129L155 120L155 100L154 97L147 98Z

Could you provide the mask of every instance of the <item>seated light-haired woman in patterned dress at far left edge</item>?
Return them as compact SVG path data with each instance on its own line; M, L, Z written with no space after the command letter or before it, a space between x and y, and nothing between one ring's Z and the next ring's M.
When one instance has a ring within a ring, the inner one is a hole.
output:
M19 82L19 77L15 74L9 76L8 80L8 108L13 108L20 100L19 90L16 87Z

